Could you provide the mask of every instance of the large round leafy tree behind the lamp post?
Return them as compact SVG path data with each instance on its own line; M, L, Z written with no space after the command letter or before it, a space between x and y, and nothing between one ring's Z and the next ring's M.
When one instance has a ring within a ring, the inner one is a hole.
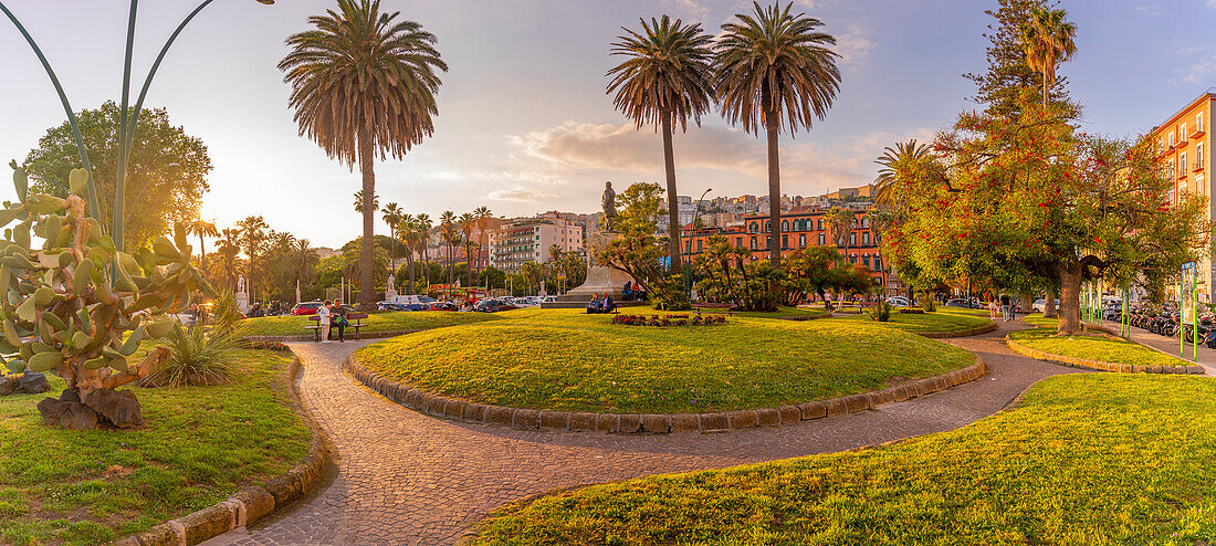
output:
M113 224L114 173L118 171L119 107L114 101L106 101L101 108L80 111L77 118L97 185L101 208L97 220L109 226ZM203 141L174 126L164 108L142 111L129 153L126 191L135 198L124 203L123 214L128 219L124 248L137 248L170 232L175 223L191 221L198 215L203 193L209 188L207 175L212 171L212 159ZM68 173L80 168L71 125L64 122L47 129L22 167L33 191L67 197Z

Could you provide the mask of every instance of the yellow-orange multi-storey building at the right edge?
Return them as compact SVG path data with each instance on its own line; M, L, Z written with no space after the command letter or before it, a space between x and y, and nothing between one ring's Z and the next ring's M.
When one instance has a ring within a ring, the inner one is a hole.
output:
M1207 214L1212 216L1211 185L1211 134L1207 124L1212 116L1212 103L1216 102L1216 88L1209 89L1195 97L1186 107L1176 112L1161 125L1153 128L1150 139L1156 141L1156 159L1173 179L1173 193L1198 192L1207 198ZM1212 287L1216 286L1216 271L1212 260L1205 258L1199 264L1199 300L1211 303ZM1171 295L1172 297L1172 295Z

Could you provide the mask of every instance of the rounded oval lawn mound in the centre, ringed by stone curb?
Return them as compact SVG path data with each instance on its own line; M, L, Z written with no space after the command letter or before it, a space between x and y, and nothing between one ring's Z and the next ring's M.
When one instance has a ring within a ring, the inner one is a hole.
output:
M970 353L861 321L730 317L637 327L580 310L527 309L360 349L418 388L484 404L679 413L856 394L968 366ZM899 350L894 350L897 348Z

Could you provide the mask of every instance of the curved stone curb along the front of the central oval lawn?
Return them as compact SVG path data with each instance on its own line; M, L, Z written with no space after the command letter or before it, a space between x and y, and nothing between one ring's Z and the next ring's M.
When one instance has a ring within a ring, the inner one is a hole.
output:
M890 387L883 390L854 394L851 396L829 400L810 401L777 409L736 410L716 413L591 413L572 411L525 410L517 407L475 404L457 398L418 390L407 384L375 373L351 353L343 364L360 383L379 393L401 406L439 417L461 420L479 424L501 424L528 430L553 432L603 432L603 433L651 433L668 434L675 432L720 432L741 428L777 427L795 424L800 421L837 417L871 410L883 404L900 403L945 390L955 385L974 381L984 375L984 360L975 355L975 364L955 370L950 373L927 377L907 384Z

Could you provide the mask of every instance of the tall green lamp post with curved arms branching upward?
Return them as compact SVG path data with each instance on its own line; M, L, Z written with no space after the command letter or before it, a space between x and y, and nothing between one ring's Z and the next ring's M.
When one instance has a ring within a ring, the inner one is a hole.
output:
M114 241L114 246L122 251L123 249L123 235L125 226L125 215L120 212L125 208L126 198L126 161L131 150L131 141L135 139L135 125L140 119L140 109L143 107L143 98L147 97L148 88L152 86L152 79L156 77L156 72L161 68L161 62L164 61L165 54L169 52L169 47L181 34L181 30L186 28L187 24L203 11L204 7L210 5L215 0L203 0L195 11L191 11L181 24L169 35L169 39L161 47L161 54L157 55L156 61L152 63L152 68L148 69L147 77L143 79L143 88L140 90L140 95L135 101L134 111L128 109L130 100L131 89L131 54L135 49L135 16L139 12L139 0L131 0L131 6L129 10L126 19L126 55L123 60L123 95L122 95L122 111L119 111L118 117L118 176L114 179L114 220L111 229L111 237ZM254 0L259 4L271 5L275 0ZM29 47L34 50L34 55L43 63L43 68L46 71L46 75L50 77L51 84L55 86L55 92L60 96L60 102L63 105L63 111L68 116L68 124L72 125L72 135L77 141L77 152L80 156L80 165L89 171L89 210L92 215L97 215L101 209L97 206L97 188L92 179L92 167L89 164L89 150L84 145L84 139L80 136L80 128L77 123L75 113L72 111L72 105L68 102L67 94L63 92L63 86L60 85L60 79L55 75L55 71L51 69L51 63L46 61L46 56L43 55L43 50L34 41L34 38L29 35L26 27L21 24L15 15L0 1L0 11L9 17L21 35L26 38Z

